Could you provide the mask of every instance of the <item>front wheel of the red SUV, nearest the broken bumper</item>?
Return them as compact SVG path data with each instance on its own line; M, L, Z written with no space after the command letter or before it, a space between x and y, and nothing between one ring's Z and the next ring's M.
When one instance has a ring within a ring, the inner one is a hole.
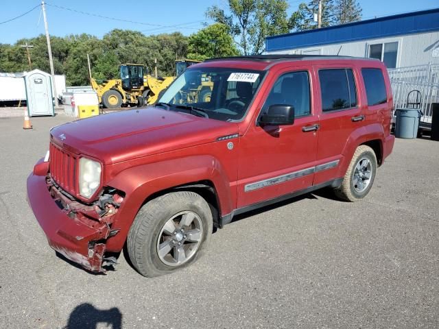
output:
M190 221L190 226L182 221ZM168 193L147 202L137 213L128 233L128 255L142 276L163 276L195 262L209 244L212 230L211 209L200 195Z

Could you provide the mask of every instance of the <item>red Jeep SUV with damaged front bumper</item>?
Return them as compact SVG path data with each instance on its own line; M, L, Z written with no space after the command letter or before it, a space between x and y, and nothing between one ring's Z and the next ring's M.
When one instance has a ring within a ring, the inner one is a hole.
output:
M206 60L154 107L54 127L29 204L49 245L86 269L105 271L126 243L143 276L160 276L242 212L324 186L365 197L392 151L391 109L378 60Z

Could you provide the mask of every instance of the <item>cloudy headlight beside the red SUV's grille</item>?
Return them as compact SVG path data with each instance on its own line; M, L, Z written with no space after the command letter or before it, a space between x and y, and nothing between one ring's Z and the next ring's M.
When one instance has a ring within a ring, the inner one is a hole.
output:
M88 158L80 158L80 195L87 199L95 194L101 184L101 164Z

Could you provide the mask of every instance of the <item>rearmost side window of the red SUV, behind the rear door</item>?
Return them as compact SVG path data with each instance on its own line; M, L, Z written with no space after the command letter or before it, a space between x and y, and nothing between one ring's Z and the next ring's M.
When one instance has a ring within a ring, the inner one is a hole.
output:
M382 104L387 101L383 71L381 69L361 69L364 87L368 96L368 106Z

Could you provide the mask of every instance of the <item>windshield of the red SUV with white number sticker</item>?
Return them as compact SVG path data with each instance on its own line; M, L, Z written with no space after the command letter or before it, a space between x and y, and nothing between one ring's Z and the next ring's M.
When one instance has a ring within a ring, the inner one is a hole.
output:
M167 88L156 106L221 121L239 121L265 71L187 69Z

